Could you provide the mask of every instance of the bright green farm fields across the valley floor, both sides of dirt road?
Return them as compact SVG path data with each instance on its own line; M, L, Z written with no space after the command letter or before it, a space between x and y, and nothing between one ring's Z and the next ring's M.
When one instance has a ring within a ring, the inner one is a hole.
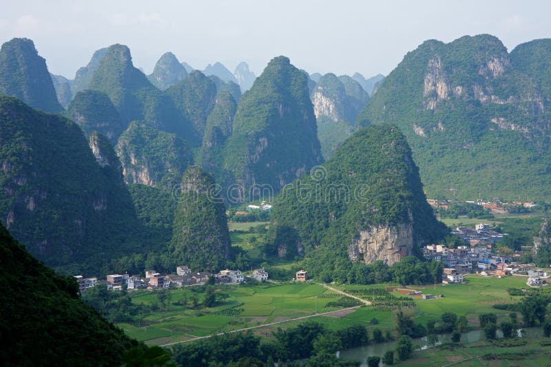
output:
M444 312L466 315L471 328L478 325L479 313L507 313L492 308L493 304L517 302L520 297L509 296L510 287L523 288L525 277L510 276L507 278L486 278L477 275L466 276L464 285L427 285L410 287L424 293L442 295L441 298L423 300L408 297L413 307L403 307L403 311L415 316L415 322L425 324L435 320ZM397 285L331 285L343 291L364 291L366 300L372 300L369 295L373 289L385 287L398 288ZM259 326L272 322L291 320L305 315L336 311L339 307L326 307L331 301L341 298L340 294L314 283L288 283L256 286L224 285L218 287L219 292L227 293L228 297L216 304L216 307L206 309L189 309L176 302L182 298L191 300L196 297L202 301L203 293L191 291L190 287L170 291L171 300L165 311L156 311L141 319L141 324L118 324L129 336L147 344L167 344L181 340L194 339L213 333L233 331L251 326ZM357 293L355 293L357 295ZM404 294L392 291L391 296L404 297ZM157 302L155 292L138 291L132 296L135 303L153 304ZM324 324L329 330L339 330L347 326L360 324L371 331L376 327L382 331L395 331L395 307L376 306L358 307L345 310L342 313L315 316L315 320ZM371 321L377 319L376 324ZM278 327L296 326L304 320L285 322L256 329L255 333L270 335Z

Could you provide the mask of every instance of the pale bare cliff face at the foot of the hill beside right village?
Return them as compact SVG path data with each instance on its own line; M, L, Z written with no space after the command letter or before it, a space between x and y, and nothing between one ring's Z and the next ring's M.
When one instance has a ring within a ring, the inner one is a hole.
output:
M381 260L388 265L413 254L413 222L368 226L348 247L349 259L366 264Z

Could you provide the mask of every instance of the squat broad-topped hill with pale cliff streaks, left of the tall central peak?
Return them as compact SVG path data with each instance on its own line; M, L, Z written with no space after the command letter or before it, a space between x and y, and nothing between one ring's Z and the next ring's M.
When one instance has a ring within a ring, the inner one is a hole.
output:
M143 183L170 192L193 164L185 140L135 121L118 138L115 149L129 185Z

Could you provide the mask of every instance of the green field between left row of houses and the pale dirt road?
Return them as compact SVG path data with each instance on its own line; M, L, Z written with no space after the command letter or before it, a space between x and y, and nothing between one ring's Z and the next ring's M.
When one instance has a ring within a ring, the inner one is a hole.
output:
M125 333L148 344L165 344L187 340L212 333L221 333L242 329L259 324L289 320L313 313L337 310L326 304L341 296L320 285L295 283L289 285L259 285L244 287L225 285L220 291L229 294L224 302L216 307L194 310L174 302L183 297L196 296L202 300L202 293L192 292L188 288L170 291L171 302L167 310L151 313L141 326L118 324ZM133 292L133 302L154 304L158 302L155 292ZM323 297L320 297L324 295Z

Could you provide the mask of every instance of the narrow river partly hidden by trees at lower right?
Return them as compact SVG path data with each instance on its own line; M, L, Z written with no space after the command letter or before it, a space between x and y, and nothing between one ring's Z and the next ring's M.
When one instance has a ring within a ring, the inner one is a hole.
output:
M541 328L526 328L523 330L523 337L542 337L543 330ZM519 333L520 331L517 331ZM418 339L413 340L413 346L416 350L424 350L428 348L434 348L442 343L451 342L451 334L440 334L438 336L438 342L436 344L430 344L428 342L428 337L419 337ZM519 333L519 336L520 333ZM497 331L497 337L503 337L503 334L500 330ZM481 330L471 330L466 333L461 334L461 343L474 343L479 342L484 339ZM353 359L357 362L362 363L362 367L367 366L367 358L373 355L382 357L386 351L393 351L396 346L396 341L384 342L378 344L368 344L366 346L358 346L357 348L347 349L346 351L340 351L337 353L337 356L340 358ZM384 366L384 364L380 364Z

